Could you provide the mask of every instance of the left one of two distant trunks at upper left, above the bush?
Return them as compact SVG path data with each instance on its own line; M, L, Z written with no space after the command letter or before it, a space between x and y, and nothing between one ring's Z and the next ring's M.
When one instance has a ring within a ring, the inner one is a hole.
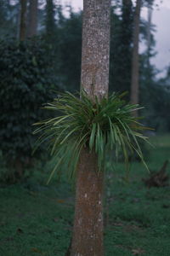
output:
M27 0L20 0L20 41L26 39L26 4Z

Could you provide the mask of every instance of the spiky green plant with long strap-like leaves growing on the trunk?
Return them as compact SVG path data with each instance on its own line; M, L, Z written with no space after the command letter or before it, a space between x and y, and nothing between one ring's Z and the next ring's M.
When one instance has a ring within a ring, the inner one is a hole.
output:
M133 116L139 106L126 104L122 96L124 94L113 93L99 102L97 97L92 100L84 91L81 98L66 92L48 103L45 108L60 115L37 123L40 127L35 133L42 132L37 146L48 141L56 163L54 171L65 163L69 176L74 177L83 147L98 155L99 171L105 167L106 152L111 150L113 161L114 155L118 159L121 151L126 163L129 152L137 153L144 163L139 139L147 139L141 133L145 127Z

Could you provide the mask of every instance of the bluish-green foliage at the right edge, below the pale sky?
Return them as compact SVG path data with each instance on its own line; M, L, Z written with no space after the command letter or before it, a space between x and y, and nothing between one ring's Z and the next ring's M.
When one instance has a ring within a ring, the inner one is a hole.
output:
M155 131L170 131L170 74L156 79L156 67L148 63L147 56L141 56L140 101L144 105L145 122Z

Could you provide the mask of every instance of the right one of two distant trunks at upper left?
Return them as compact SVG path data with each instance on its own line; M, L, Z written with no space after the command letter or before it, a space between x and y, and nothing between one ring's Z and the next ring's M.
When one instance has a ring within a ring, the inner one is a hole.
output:
M31 38L37 34L37 0L30 0L28 14L27 37Z

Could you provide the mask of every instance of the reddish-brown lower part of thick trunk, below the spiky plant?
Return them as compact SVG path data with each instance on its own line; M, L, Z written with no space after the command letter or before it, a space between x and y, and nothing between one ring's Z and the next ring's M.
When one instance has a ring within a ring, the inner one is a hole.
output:
M97 157L82 149L77 173L76 218L71 256L103 255L103 172Z

